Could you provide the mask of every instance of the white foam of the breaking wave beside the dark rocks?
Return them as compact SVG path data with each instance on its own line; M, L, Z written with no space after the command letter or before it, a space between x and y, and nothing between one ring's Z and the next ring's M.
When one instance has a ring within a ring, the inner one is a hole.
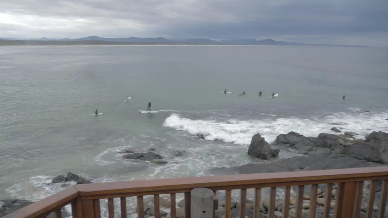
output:
M372 131L388 131L388 122L385 120L388 112L381 113L336 113L325 118L278 118L263 120L237 120L226 121L192 120L182 118L178 114L171 114L164 126L184 130L192 135L203 134L206 140L222 140L240 145L248 145L252 135L260 133L268 142L275 140L279 134L296 131L305 136L317 136L319 133L333 133L332 127L341 127L344 131L359 133L359 138ZM336 125L333 125L336 123Z

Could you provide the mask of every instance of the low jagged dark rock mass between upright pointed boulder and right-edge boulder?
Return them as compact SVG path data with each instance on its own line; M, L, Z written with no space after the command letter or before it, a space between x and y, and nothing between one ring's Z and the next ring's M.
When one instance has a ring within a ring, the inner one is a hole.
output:
M290 147L300 154L331 154L343 142L343 138L334 134L320 133L318 137L306 137L291 131L278 135L274 145Z

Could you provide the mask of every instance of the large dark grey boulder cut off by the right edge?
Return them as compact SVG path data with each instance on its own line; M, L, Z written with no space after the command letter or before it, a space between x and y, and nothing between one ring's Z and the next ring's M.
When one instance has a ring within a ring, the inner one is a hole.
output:
M356 141L346 147L346 154L371 162L388 164L388 133L379 131L369 134L365 141Z

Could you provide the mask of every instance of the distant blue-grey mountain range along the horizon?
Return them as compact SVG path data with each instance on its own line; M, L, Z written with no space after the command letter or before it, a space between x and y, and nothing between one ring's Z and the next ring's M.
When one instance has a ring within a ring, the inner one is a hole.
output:
M317 45L301 42L282 42L272 39L256 40L256 39L241 39L241 40L210 40L204 38L174 40L163 37L158 38L103 38L99 36L88 36L84 38L39 38L39 39L16 39L16 38L0 38L0 46L4 45ZM319 44L324 45L324 44ZM341 45L329 45L341 46Z

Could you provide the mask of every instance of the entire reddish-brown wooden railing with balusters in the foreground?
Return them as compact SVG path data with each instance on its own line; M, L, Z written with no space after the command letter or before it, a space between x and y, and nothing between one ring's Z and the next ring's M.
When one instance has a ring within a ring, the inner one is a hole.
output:
M317 163L319 164L319 163ZM381 197L378 209L374 206L377 190L377 181L381 180ZM225 218L231 218L232 190L240 189L239 217L246 216L247 189L254 189L253 217L261 218L262 188L270 188L268 218L275 218L275 201L277 190L284 189L282 200L282 217L315 217L318 204L323 205L323 217L330 217L331 208L334 208L334 217L359 218L362 208L364 181L371 181L369 185L368 201L365 208L366 217L377 213L379 218L386 217L386 201L388 194L388 166L371 168L352 168L338 170L296 171L284 173L260 173L227 176L208 176L194 178L174 178L161 180L109 182L75 185L62 190L57 194L37 201L4 218L40 218L54 213L54 217L61 218L61 208L71 204L73 218L99 218L101 217L100 199L107 199L108 217L114 217L114 198L120 199L121 217L127 217L126 197L137 198L137 211L144 211L143 196L154 196L154 216L159 218L159 196L170 194L171 218L178 217L176 207L176 194L184 193L184 217L191 218L191 191L195 188L207 188L216 191L225 191ZM326 184L326 192L322 198L317 198L319 184ZM333 184L336 184L335 206L332 202ZM304 186L312 185L310 210L304 210ZM291 197L291 186L297 186L295 197ZM277 189L278 188L278 189ZM290 214L290 200L296 200L292 205L294 209ZM249 205L248 205L249 206ZM118 209L118 208L116 208ZM182 217L182 215L179 215ZM213 215L214 216L214 215ZM144 218L144 213L138 213L138 218ZM197 217L192 217L197 218Z

